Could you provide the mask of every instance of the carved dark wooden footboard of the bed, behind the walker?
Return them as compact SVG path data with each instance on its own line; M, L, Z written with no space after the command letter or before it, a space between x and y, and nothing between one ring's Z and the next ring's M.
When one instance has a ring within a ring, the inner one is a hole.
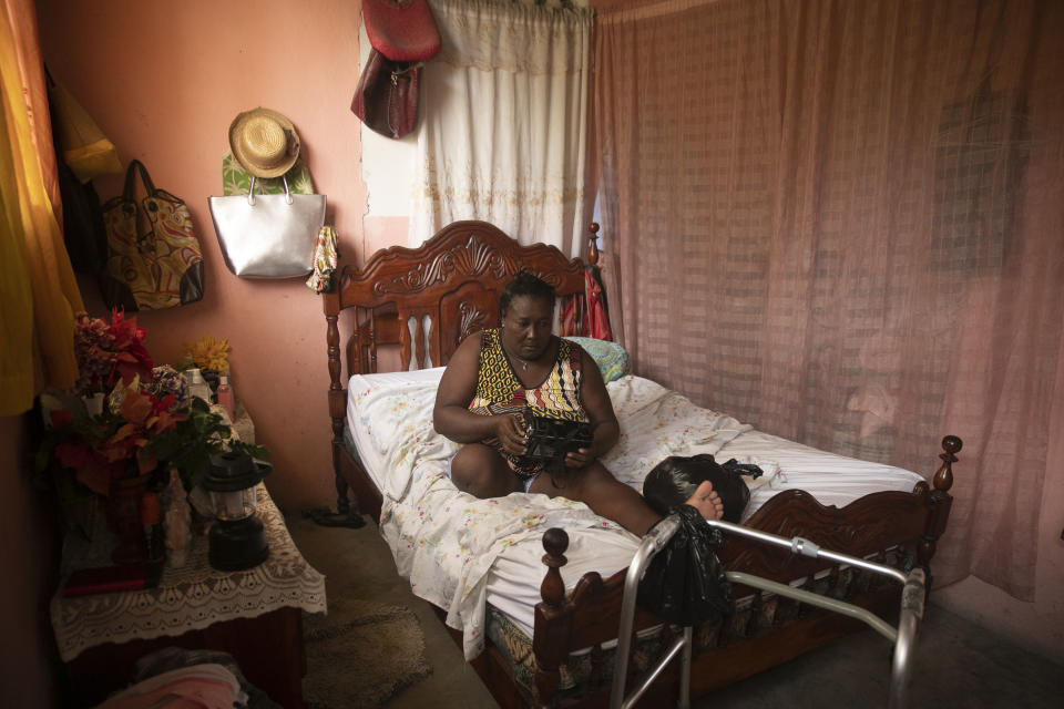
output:
M942 440L944 452L939 455L942 464L932 485L921 482L911 493L866 495L842 508L826 507L808 493L791 490L771 497L745 525L785 537L801 536L833 552L900 568L922 566L930 590L929 564L949 518L952 465L961 445L961 440L953 435ZM626 571L605 580L598 574L585 574L566 595L559 568L565 565L567 544L563 530L552 528L543 536L546 551L543 563L548 572L541 586L543 600L535 608L532 640L538 691L534 706L555 703L562 664L571 653L589 647L592 648L591 692L577 702L567 701L566 706L598 705L610 691L611 667L602 644L616 637ZM889 616L898 610L900 587L863 571L840 568L827 561L798 556L745 538L726 540L718 557L729 572L746 572L780 583L804 579L801 586L806 589L827 593L880 615ZM736 613L696 630L693 697L779 665L862 627L849 618L765 592L735 587L734 593L740 599ZM636 630L659 625L661 620L651 614L636 615ZM667 627L661 631L672 633ZM628 662L630 667L634 665ZM674 700L678 693L676 682L675 671L666 671L658 680L655 699L649 701Z

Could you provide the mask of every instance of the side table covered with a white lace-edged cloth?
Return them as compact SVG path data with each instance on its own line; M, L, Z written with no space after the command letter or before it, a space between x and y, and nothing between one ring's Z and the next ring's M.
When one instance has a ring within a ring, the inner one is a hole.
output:
M254 568L212 568L207 540L197 535L185 565L166 568L156 588L73 598L55 593L52 629L79 701L102 701L132 680L136 659L174 645L228 653L278 705L304 706L301 613L325 613L325 576L299 553L262 483L257 495L269 558Z

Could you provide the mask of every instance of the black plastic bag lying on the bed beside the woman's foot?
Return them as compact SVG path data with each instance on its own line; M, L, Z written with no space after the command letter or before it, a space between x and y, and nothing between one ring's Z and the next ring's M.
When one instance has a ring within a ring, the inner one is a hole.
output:
M643 496L657 514L665 516L684 504L695 494L695 489L708 480L724 503L723 518L738 524L750 502L750 489L743 475L757 477L760 474L761 469L757 465L743 464L735 459L720 465L707 453L690 458L671 455L647 474L643 481Z

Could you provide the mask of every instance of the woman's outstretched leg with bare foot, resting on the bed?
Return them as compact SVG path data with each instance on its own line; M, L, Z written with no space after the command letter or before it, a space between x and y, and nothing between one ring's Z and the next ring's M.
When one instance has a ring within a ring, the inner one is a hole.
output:
M646 504L643 495L614 477L598 461L582 471L570 471L566 475L555 475L553 479L543 473L535 479L529 492L583 502L595 514L613 520L637 536L646 534L662 518ZM720 496L709 481L698 485L687 504L709 520L719 520L724 514Z

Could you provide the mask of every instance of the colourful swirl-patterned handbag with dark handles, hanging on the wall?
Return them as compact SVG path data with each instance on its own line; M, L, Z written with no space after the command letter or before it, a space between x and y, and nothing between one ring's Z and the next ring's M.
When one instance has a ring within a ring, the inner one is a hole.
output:
M146 193L140 204L137 173ZM141 161L130 163L122 194L103 205L103 222L109 254L101 290L109 308L158 310L203 298L203 251L188 207L157 189Z

